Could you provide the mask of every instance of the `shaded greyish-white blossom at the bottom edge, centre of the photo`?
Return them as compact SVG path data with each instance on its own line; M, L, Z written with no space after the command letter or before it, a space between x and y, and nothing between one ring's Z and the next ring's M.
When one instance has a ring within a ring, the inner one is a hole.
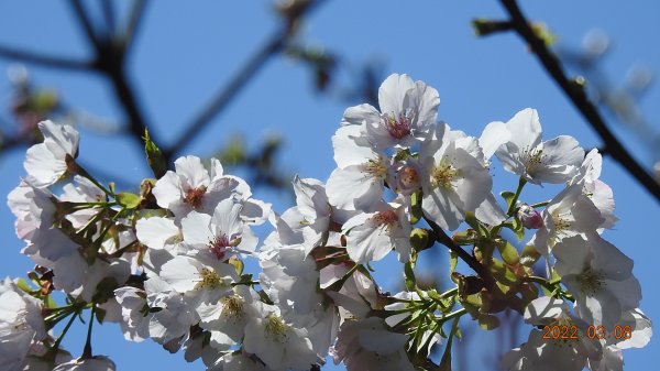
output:
M343 362L349 371L413 371L407 341L406 335L387 330L383 319L370 317L344 323L331 353L334 364Z

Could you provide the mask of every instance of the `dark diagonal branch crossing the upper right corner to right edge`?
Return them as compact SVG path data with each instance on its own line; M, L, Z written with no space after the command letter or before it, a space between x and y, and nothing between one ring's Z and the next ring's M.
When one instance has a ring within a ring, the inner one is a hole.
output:
M546 72L573 102L580 113L596 131L607 148L609 155L616 160L632 177L635 177L660 203L660 184L631 155L607 128L595 106L588 100L582 87L572 84L563 72L561 62L548 50L546 43L531 29L516 0L499 0L510 17L514 30L522 37Z

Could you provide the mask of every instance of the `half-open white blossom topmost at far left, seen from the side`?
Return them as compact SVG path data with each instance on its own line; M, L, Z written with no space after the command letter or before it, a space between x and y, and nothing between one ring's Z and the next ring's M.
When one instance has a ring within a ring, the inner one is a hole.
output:
M59 181L67 171L66 156L78 155L78 131L72 126L57 124L51 120L38 123L44 135L43 143L28 149L23 166L28 182L37 188L47 187Z

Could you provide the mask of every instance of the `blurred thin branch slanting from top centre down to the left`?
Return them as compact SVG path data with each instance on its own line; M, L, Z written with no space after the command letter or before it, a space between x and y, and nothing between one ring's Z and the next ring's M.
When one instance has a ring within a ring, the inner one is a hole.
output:
M217 92L217 95L207 102L205 108L186 126L185 131L178 137L174 144L164 151L169 156L176 155L188 143L195 139L210 121L227 107L240 90L256 75L265 63L286 46L293 33L295 23L314 8L320 4L321 0L312 0L302 8L296 9L295 13L288 15L282 30L273 35L239 70L239 73L229 81L229 84Z

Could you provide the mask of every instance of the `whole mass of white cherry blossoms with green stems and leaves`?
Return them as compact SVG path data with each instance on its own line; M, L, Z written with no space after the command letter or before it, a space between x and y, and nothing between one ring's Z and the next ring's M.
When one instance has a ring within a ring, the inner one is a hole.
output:
M439 122L439 103L425 83L389 76L380 108L345 110L327 182L296 177L296 205L282 214L216 159L205 167L179 157L139 192L118 192L77 162L73 127L41 122L44 141L28 150L28 176L9 195L36 268L29 281L0 285L0 363L114 370L92 353L91 336L78 358L61 349L89 310L128 340L184 349L213 371L311 370L328 356L349 370L433 369L432 348L444 347L441 365L451 362L464 315L493 329L509 309L534 327L504 356L506 369L623 369L622 350L646 346L651 323L632 261L602 237L617 219L598 179L601 155L585 155L571 137L542 141L534 109L475 138ZM160 152L145 140L155 164ZM518 176L502 203L492 193L494 157ZM522 201L526 185L543 183L563 187L550 200ZM252 228L265 222L274 230L260 242ZM454 283L444 291L420 287L415 272L438 243ZM371 274L370 263L389 253L403 265L397 294ZM459 259L474 273L459 273ZM248 272L250 261L260 272ZM579 336L547 337L543 327Z

